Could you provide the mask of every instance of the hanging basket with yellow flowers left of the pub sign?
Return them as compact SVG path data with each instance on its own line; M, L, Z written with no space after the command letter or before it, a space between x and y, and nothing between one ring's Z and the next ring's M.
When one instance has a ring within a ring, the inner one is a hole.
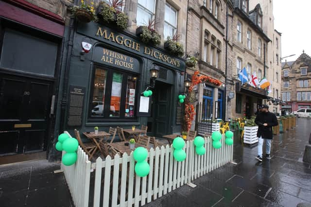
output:
M94 10L94 2L86 3L87 0L81 0L81 5L74 5L70 8L71 13L78 19L78 21L87 23L91 20L97 21Z

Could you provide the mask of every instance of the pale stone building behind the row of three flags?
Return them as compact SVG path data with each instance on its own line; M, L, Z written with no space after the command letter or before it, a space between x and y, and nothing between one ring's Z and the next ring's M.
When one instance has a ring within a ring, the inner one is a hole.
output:
M262 104L267 98L267 92L247 83L241 86L241 81L237 79L238 74L245 68L249 77L256 72L259 81L267 76L267 44L271 40L262 28L264 23L260 4L255 8L250 7L248 0L233 0L233 4L232 59L235 62L232 76L236 78L236 93L231 100L231 117L250 117L256 112L258 104Z

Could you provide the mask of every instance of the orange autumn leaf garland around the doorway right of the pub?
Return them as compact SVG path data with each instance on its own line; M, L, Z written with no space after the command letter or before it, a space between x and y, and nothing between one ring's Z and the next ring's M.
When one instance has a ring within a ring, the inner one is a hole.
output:
M195 71L194 74L191 77L191 86L189 87L189 92L191 92L193 90L193 87L204 82L207 81L208 83L211 83L215 86L221 86L222 82L220 82L219 80L216 80L214 78L211 78L209 76L206 75L199 75L200 71ZM184 130L187 132L189 132L190 128L191 128L191 123L194 120L194 106L192 104L190 104L189 102L187 102L185 104L185 120L184 120Z

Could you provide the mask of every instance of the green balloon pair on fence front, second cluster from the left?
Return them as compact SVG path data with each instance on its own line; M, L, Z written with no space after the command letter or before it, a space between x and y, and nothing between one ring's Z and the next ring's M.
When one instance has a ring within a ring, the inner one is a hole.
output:
M134 151L134 159L137 161L135 165L135 173L139 177L144 177L149 174L150 166L147 161L148 151L146 148L138 147Z

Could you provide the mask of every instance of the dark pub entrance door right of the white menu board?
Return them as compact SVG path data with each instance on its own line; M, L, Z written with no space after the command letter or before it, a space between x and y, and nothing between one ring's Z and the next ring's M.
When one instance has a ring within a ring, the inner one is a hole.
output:
M161 137L171 133L170 125L172 85L156 82L153 102L153 135Z

